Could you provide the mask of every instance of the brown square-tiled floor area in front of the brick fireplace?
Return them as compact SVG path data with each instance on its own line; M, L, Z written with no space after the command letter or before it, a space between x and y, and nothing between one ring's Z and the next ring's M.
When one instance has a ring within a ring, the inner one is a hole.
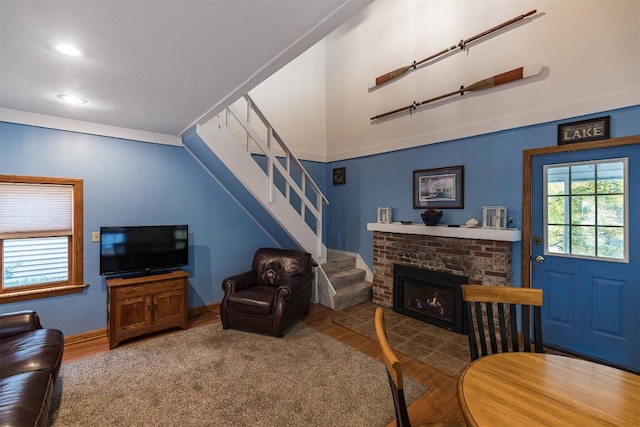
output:
M374 317L377 304L363 302L334 311L334 323L377 341ZM466 335L404 316L384 308L387 338L398 352L420 360L440 372L459 377L469 364L469 341Z

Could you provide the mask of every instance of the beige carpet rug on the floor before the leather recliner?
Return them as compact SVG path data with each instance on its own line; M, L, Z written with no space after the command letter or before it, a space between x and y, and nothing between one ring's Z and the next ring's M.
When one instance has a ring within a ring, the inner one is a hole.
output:
M284 338L211 324L62 366L54 426L385 426L384 365L297 324ZM427 387L407 378L413 402Z

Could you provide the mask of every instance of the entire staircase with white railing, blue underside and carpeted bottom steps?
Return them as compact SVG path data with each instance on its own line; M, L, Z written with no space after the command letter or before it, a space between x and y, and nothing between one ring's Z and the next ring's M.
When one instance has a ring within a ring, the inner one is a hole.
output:
M183 135L185 148L264 227L274 242L298 246L320 266L313 301L341 310L371 300L356 258L322 242L329 203L249 95ZM284 234L284 235L283 235Z

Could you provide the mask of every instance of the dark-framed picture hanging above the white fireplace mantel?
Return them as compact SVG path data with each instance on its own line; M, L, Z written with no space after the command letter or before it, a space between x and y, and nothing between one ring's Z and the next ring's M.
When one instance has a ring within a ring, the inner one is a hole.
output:
M413 171L413 208L462 209L462 166Z

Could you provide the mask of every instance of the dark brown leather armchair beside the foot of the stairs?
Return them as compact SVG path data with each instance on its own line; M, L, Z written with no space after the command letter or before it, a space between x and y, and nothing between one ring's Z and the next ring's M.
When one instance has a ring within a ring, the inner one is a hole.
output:
M222 281L222 328L283 336L309 314L315 265L307 252L258 249L251 270Z

